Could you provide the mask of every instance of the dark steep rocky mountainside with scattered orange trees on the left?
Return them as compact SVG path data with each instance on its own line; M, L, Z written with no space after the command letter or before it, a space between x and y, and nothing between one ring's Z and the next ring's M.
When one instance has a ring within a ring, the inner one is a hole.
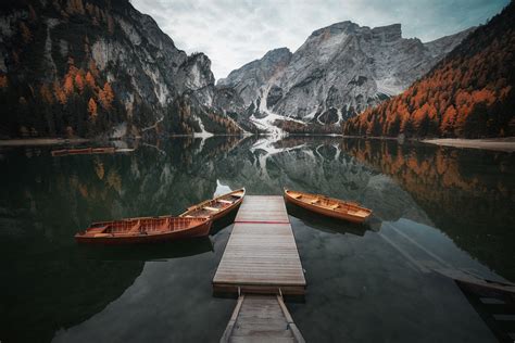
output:
M128 0L2 1L0 137L238 132L211 61Z

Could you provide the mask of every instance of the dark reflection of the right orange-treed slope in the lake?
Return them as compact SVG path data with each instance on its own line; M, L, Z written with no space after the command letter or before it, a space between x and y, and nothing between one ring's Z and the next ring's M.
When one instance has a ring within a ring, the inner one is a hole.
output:
M343 142L362 163L390 176L434 227L515 281L515 156L393 141Z

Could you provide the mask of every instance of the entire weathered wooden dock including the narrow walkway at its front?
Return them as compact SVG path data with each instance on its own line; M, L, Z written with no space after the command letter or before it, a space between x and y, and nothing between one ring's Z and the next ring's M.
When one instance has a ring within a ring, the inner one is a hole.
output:
M282 301L305 290L282 196L244 198L213 290L239 294L221 342L304 342Z

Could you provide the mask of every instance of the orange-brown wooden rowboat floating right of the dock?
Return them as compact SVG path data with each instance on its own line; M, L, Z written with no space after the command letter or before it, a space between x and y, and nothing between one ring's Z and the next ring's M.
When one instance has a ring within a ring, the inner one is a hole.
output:
M361 207L356 203L319 194L285 189L285 200L305 209L352 223L361 224L372 215L372 209Z

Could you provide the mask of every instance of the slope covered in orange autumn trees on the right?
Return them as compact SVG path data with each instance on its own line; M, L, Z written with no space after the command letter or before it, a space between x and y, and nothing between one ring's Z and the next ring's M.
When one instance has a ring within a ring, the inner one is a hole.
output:
M346 135L515 135L515 3L477 28L402 94L344 125Z

